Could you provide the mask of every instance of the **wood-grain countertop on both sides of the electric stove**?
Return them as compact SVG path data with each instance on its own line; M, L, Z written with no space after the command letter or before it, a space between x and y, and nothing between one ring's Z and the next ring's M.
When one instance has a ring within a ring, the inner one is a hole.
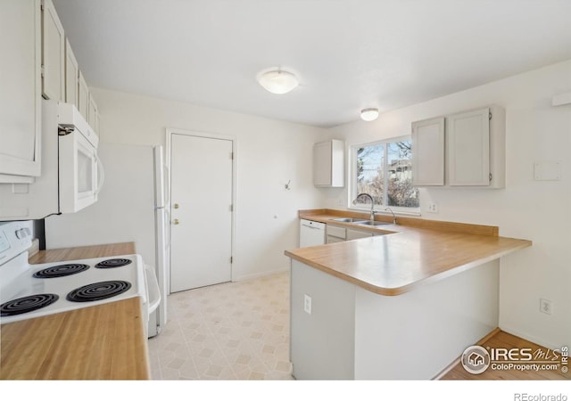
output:
M30 263L136 253L132 242L40 250ZM147 380L140 299L124 299L0 326L0 379Z

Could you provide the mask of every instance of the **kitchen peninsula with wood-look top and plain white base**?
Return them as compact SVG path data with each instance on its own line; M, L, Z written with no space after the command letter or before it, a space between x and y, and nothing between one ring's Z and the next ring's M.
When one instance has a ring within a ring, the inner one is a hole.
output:
M495 226L417 218L366 229L382 235L285 251L297 379L433 379L498 326L500 258L532 245Z

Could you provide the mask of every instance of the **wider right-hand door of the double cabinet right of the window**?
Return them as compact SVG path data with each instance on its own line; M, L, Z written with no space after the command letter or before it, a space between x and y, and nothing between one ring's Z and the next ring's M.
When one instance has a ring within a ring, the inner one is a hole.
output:
M454 114L446 119L450 185L489 185L490 109Z

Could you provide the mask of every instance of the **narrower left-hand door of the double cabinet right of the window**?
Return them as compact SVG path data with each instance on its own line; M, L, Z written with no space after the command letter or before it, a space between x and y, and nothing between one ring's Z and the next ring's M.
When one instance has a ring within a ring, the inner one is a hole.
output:
M412 184L444 184L444 118L412 123Z

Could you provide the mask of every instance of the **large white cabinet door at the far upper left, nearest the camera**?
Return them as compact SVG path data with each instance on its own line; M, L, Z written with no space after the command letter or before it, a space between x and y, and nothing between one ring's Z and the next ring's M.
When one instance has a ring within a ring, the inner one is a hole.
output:
M39 0L3 0L0 27L0 182L29 182L41 172Z

